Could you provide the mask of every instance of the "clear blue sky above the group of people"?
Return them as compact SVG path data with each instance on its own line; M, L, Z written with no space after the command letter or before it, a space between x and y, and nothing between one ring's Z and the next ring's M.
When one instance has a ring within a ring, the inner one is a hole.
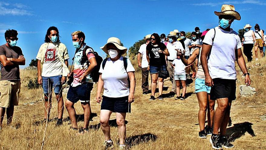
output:
M242 17L231 28L238 31L245 24L254 27L258 23L266 31L264 0L0 0L0 39L5 44L4 32L8 28L19 32L17 45L22 48L26 66L36 57L50 26L59 29L60 40L67 46L70 57L75 50L70 34L76 30L83 31L85 42L105 56L99 47L112 36L129 48L154 32L167 35L174 29L213 28L218 25L213 12L220 11L224 3L235 5Z

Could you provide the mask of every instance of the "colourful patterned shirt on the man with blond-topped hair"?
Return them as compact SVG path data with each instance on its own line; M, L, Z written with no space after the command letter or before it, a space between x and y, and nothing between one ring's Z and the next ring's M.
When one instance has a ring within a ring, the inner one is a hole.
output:
M93 83L92 77L90 75L86 75L85 80L83 80L82 82L79 82L79 78L80 76L83 75L83 73L88 69L88 65L86 62L81 62L81 58L83 55L83 49L86 47L86 43L83 45L82 48L80 48L78 50L78 52L76 52L76 55L74 57L74 80L72 82L72 87L76 87L78 85L81 85L84 82L90 82ZM88 58L88 61L95 57L93 54L93 50L91 48L88 48L86 50L86 56Z

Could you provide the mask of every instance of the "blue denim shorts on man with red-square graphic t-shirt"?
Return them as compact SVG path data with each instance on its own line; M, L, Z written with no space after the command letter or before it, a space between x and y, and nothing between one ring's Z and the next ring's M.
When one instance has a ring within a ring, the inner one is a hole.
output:
M43 89L44 94L48 95L54 90L54 93L58 95L62 92L62 84L61 84L62 75L57 75L53 77L42 77L43 80ZM50 89L50 90L49 90Z

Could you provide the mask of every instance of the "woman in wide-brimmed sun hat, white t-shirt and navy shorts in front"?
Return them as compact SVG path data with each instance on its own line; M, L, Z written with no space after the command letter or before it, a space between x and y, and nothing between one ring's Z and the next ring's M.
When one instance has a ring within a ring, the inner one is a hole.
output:
M118 125L120 149L125 149L126 125L125 117L130 111L130 104L134 102L135 69L130 60L122 55L127 48L121 45L120 39L111 37L101 49L110 57L105 58L100 66L96 102L101 105L100 124L104 133L105 142L103 149L113 146L110 137L109 119L115 112ZM102 88L103 98L101 98Z

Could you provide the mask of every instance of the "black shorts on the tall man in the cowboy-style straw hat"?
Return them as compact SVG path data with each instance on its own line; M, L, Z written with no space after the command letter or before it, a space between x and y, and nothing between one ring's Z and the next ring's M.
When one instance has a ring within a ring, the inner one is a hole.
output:
M228 98L229 101L235 100L236 80L232 79L212 79L214 85L211 88L210 99Z

